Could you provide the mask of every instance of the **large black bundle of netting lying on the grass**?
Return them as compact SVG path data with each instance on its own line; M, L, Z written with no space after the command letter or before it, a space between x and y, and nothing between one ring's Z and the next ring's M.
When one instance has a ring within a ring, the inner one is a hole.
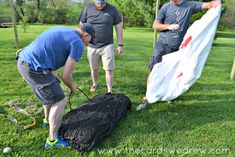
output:
M132 102L124 94L100 94L81 107L68 112L62 120L60 135L71 147L88 151L111 134Z

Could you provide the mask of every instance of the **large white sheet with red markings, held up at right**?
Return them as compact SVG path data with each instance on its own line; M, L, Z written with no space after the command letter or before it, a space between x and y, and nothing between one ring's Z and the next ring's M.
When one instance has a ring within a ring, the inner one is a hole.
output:
M201 76L219 22L221 5L212 8L188 29L180 49L163 56L151 71L146 98L149 103L169 101L187 91Z

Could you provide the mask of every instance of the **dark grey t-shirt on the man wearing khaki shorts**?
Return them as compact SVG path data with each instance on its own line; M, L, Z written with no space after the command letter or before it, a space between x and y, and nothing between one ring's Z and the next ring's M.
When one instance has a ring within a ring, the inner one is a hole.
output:
M93 48L113 44L113 26L121 22L117 9L108 3L103 10L97 9L94 3L87 5L78 20L82 23L88 22L95 28L96 44L89 44Z

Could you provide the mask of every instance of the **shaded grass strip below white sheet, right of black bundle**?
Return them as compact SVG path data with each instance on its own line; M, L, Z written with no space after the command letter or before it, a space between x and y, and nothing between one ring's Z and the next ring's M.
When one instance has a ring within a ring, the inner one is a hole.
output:
M202 92L179 97L173 104L154 103L141 111L135 111L136 106L133 105L132 112L128 112L113 133L95 149L113 149L118 145L120 148L120 143L124 141L129 146L138 145L144 137L158 137L160 133L172 134L169 138L174 138L178 132L217 122L221 123L218 127L234 129L224 126L224 122L235 120L234 103L234 94L217 95L209 92L205 95ZM127 139L132 140L126 142Z

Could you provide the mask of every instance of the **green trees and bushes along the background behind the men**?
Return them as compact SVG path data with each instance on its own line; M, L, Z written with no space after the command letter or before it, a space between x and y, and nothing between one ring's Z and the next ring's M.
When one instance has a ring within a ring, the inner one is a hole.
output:
M169 0L160 0L160 7ZM207 2L208 0L200 0ZM68 0L16 0L17 19L27 17L29 23L76 24L85 4L69 4ZM155 19L156 0L108 0L122 15L124 26L151 28ZM235 1L223 0L223 15L220 28L235 28ZM193 15L191 22L199 19L204 12ZM0 22L10 21L8 0L0 0Z

